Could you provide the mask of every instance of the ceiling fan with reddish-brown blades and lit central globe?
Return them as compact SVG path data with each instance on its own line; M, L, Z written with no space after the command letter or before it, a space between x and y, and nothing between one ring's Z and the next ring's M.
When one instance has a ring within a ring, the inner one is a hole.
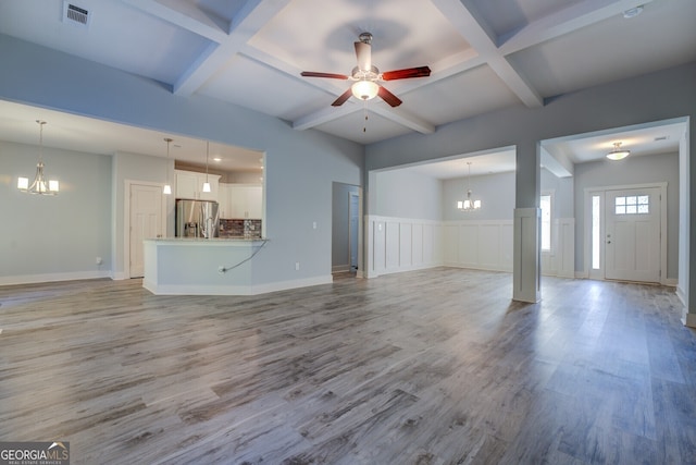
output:
M339 107L350 98L351 95L361 100L370 100L380 96L391 107L401 105L401 100L378 84L380 81L407 79L410 77L426 77L431 75L431 69L427 66L407 68L405 70L385 71L381 73L376 66L372 65L372 34L362 33L359 36L360 41L356 45L356 57L358 65L352 69L350 75L336 73L316 73L313 71L302 71L304 77L328 77L332 79L353 81L348 90L340 95L333 103Z

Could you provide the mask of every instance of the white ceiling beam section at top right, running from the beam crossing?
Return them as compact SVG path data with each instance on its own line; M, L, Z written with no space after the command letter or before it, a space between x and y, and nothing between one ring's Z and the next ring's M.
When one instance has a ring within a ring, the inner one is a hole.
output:
M642 4L652 0L641 0ZM533 47L600 21L622 14L634 8L635 0L585 0L549 14L522 29L500 38L499 51L504 56Z

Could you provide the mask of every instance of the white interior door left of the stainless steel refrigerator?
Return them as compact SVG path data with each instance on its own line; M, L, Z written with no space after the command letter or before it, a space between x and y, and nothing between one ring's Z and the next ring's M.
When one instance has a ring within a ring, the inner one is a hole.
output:
M130 278L144 274L142 241L162 237L164 212L162 187L152 185L130 185Z

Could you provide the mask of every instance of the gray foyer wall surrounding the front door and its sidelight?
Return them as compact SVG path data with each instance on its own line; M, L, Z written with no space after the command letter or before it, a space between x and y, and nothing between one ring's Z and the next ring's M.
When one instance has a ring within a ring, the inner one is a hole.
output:
M584 189L641 183L667 184L667 278L676 279L679 259L679 154L629 157L575 166L575 270L584 268Z

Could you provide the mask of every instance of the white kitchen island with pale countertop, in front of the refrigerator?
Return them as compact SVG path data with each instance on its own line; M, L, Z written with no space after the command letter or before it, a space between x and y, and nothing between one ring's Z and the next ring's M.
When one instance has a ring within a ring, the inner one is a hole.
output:
M254 295L253 257L263 238L148 238L142 286L158 295Z

